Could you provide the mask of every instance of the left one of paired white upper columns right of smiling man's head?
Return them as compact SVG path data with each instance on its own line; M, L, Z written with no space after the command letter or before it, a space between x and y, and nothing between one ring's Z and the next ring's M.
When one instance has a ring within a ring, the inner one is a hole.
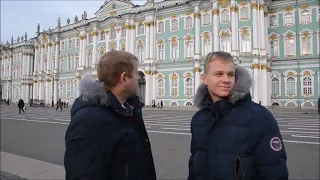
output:
M256 1L252 1L252 4L251 4L251 8L252 8L252 23L253 23L253 27L252 27L252 34L253 34L253 49L252 49L252 53L253 54L258 54L258 42L259 42L259 37L258 37L258 32L259 32L259 29L258 29L258 19L259 19L259 16L258 16L258 6L257 6L257 3Z

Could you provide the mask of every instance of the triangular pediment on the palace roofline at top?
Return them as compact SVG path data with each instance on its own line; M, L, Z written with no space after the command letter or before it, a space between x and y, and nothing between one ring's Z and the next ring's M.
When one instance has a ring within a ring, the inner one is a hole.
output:
M97 17L105 15L116 15L122 10L131 9L134 5L130 0L110 0L106 1L101 8L95 13Z

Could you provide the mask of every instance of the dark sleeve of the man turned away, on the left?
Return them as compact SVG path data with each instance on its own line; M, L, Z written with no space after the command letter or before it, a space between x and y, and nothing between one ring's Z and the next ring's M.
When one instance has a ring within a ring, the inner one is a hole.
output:
M107 179L112 156L109 134L95 117L78 115L72 119L65 136L66 180Z

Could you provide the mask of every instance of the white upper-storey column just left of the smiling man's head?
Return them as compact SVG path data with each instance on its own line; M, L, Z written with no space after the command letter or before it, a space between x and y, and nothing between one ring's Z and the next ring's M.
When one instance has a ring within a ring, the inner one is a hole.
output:
M199 6L194 7L194 19L195 19L195 51L194 51L194 59L200 59L200 12L199 12Z

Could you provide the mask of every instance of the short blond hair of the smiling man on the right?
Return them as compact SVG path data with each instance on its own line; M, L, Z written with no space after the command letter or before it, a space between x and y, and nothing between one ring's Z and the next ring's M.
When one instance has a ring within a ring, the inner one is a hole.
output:
M206 59L204 60L204 73L208 73L209 64L215 60L227 61L234 64L233 57L230 53L223 51L211 52L206 56Z

